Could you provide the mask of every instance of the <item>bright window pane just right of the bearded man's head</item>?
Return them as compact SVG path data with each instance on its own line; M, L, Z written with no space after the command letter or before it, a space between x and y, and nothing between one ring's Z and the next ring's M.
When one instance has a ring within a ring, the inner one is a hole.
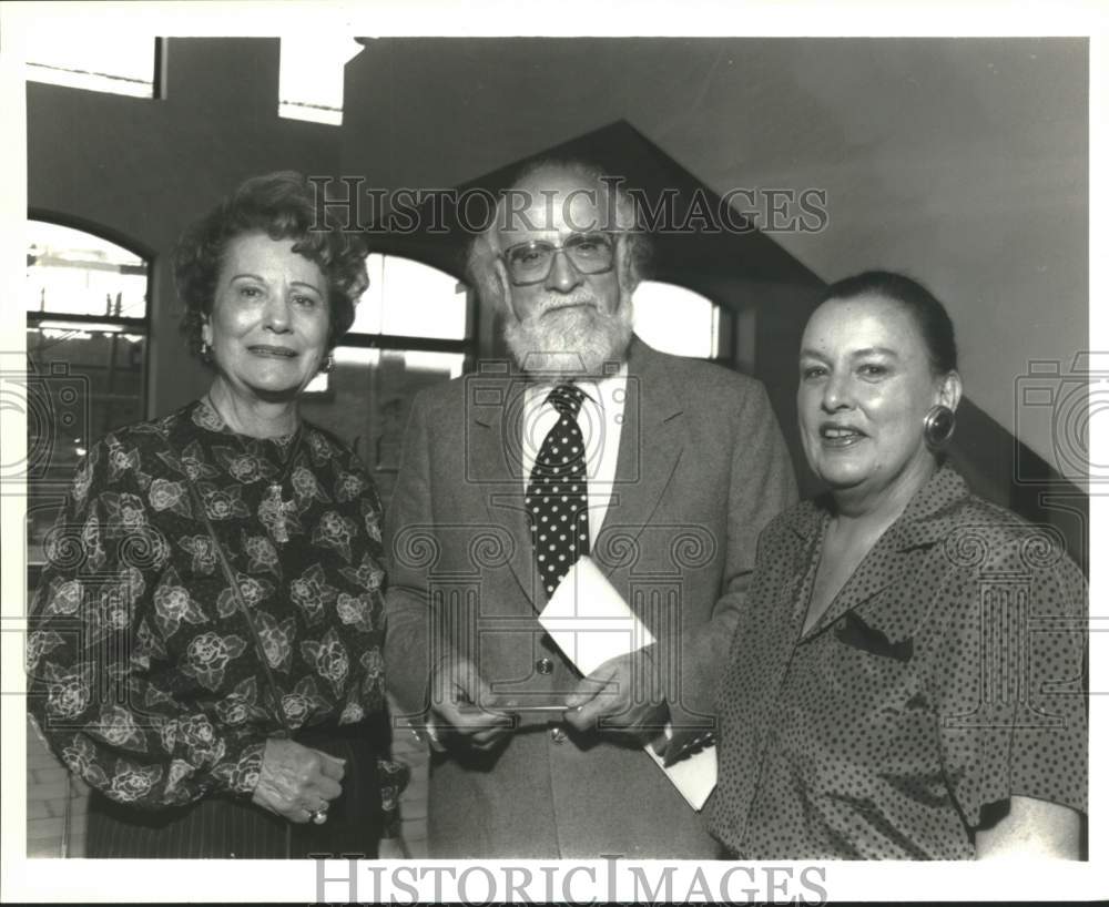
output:
M635 333L675 356L715 358L720 307L699 293L673 284L644 281L637 287Z

